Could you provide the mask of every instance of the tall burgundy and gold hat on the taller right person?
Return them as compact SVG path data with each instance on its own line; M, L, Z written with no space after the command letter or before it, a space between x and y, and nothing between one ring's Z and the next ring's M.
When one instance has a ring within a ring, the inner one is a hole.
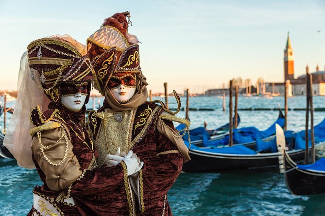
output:
M104 20L99 30L87 39L88 57L94 68L94 84L102 95L114 73L141 73L137 37L128 33L129 12Z

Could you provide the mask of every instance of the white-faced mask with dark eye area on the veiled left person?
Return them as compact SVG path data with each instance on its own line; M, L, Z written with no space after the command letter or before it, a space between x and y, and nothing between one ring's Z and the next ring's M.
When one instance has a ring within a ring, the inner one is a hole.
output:
M87 97L87 83L62 84L61 103L63 106L78 111L83 108Z

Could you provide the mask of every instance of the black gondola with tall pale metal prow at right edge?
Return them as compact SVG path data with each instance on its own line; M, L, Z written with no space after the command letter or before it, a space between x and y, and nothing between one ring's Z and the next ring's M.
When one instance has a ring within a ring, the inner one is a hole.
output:
M276 131L276 136L284 137L283 130ZM285 138L282 138L282 140ZM284 147L278 144L279 170L284 173L288 190L294 195L310 195L325 193L325 158L313 164L299 165Z

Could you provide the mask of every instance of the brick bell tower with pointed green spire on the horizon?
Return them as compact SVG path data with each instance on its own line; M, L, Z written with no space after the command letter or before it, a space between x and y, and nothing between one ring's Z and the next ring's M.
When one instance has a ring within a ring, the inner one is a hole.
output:
M284 50L284 81L287 79L291 80L294 79L294 57L293 57L293 49L291 48L291 41L289 37L288 31L288 38L287 38L287 45Z

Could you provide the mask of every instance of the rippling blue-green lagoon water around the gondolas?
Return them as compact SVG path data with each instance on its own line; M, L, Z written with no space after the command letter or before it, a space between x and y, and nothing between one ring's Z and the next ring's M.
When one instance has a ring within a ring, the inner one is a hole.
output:
M185 98L181 100L185 105ZM170 97L169 101L170 107L176 107L172 104L175 102L173 98ZM205 121L207 127L213 129L229 121L228 110L222 111L222 99L219 97L191 97L189 103L191 108L215 109L190 111L192 128L203 126ZM239 108L277 108L278 104L284 107L283 97L239 97ZM289 98L289 108L306 108L306 97ZM325 97L315 96L314 108L325 108ZM303 130L305 114L305 111L290 110L288 129ZM180 111L177 116L184 117L185 112ZM278 111L239 111L239 116L239 127L266 129L277 119ZM0 118L2 126L3 115ZM315 112L314 125L324 118L325 112ZM0 159L0 173L0 216L26 215L33 203L32 189L41 184L36 170L20 168L14 160ZM175 216L325 215L324 194L291 195L283 175L277 172L181 173L168 194L168 200Z

